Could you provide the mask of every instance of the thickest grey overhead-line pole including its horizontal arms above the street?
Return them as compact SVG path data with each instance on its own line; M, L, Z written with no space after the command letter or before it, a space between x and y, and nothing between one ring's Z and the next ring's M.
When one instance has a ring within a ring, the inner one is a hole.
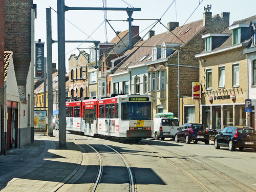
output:
M66 148L66 65L65 65L65 42L80 42L80 41L65 41L65 12L69 10L92 10L92 11L126 11L129 15L129 26L132 27L133 11L141 11L141 8L97 8L97 7L68 7L65 6L65 0L57 0L57 20L58 20L58 80L59 80L59 147ZM132 42L131 30L129 37ZM56 42L56 41L52 41ZM82 41L94 42L96 49L95 68L97 69L97 50L99 41ZM132 49L132 44L129 45Z

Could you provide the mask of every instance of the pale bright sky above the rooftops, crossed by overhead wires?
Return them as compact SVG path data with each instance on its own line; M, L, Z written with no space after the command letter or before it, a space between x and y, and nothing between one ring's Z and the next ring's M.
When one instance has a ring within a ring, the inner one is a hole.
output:
M41 39L46 42L46 8L57 11L57 0L33 0L37 4L37 18L35 20L35 41ZM127 5L127 4L129 5ZM199 5L199 3L201 3ZM134 19L159 19L167 26L167 22L179 22L179 26L203 18L204 7L211 4L212 15L221 12L230 12L229 24L234 21L255 15L256 0L66 0L65 5L69 7L132 7L141 8L134 12ZM172 5L171 5L172 4ZM170 6L171 5L171 6ZM170 8L167 10L167 8ZM167 10L167 11L166 11ZM166 11L166 12L165 12ZM193 13L194 12L194 13ZM190 17L189 17L190 16ZM66 40L100 40L110 42L115 37L115 32L104 23L104 18L126 20L126 11L67 11L65 13L65 35ZM140 27L140 36L143 37L155 20L134 20L132 25ZM128 22L110 22L115 31L125 31L129 28ZM105 30L106 27L106 30ZM152 30L155 34L166 31L161 24L157 24ZM95 31L95 32L94 32ZM89 37L90 36L90 37ZM146 39L146 35L143 39ZM52 10L52 38L57 40L57 13ZM68 70L68 59L71 54L79 54L77 48L89 52L92 43L66 43L66 69ZM46 46L46 45L45 45ZM57 44L52 46L53 62L58 63ZM45 56L46 49L45 49Z

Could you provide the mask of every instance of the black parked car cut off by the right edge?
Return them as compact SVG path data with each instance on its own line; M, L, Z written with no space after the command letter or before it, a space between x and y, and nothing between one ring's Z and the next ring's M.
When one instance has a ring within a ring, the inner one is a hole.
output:
M226 126L220 134L215 136L214 146L219 149L220 146L228 147L229 151L235 148L244 150L244 148L256 149L256 132L251 127Z

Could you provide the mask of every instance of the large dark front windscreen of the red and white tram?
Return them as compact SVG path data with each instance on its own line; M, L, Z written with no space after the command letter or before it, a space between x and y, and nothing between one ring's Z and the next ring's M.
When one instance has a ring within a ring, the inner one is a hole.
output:
M151 102L125 102L121 104L122 120L152 120Z

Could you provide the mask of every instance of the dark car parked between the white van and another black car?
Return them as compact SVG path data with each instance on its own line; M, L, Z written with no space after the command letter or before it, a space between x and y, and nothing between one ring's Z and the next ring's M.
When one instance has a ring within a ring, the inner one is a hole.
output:
M205 144L209 144L209 133L203 124L185 123L178 128L175 134L175 142L180 140L184 140L186 143L203 141Z

